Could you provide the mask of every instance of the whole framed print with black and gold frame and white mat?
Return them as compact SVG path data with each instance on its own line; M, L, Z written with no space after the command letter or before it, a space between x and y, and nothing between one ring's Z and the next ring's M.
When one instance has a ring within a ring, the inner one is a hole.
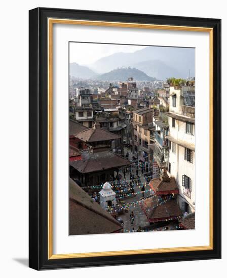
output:
M29 11L29 266L221 254L220 19Z

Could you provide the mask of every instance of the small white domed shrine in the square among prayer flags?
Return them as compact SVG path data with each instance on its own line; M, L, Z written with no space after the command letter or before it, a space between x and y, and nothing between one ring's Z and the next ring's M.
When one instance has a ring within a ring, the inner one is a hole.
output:
M116 205L116 193L112 190L111 184L109 182L105 182L103 184L102 190L99 192L100 206L106 209L108 206Z

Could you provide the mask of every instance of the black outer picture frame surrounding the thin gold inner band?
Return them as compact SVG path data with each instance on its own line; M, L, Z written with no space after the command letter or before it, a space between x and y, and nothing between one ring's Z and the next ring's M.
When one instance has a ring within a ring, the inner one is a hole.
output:
M213 250L48 260L48 18L213 28ZM29 267L42 270L221 258L220 60L220 19L52 8L29 11Z

